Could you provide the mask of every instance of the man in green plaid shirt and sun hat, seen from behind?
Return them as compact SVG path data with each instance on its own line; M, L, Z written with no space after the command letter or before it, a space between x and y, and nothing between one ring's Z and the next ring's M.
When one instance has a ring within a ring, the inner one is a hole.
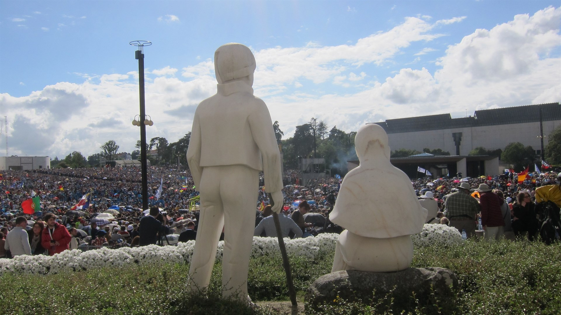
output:
M450 226L456 227L459 232L466 230L468 238L475 236L475 225L479 203L470 195L470 184L461 182L456 186L458 191L448 195L446 199L447 217Z

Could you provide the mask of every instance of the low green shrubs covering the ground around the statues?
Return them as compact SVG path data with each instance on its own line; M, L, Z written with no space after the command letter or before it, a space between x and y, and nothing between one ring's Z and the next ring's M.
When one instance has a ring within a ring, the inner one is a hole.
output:
M333 253L315 260L291 257L292 277L303 303L304 291L329 273ZM435 296L396 305L388 294L306 309L309 314L558 314L561 309L561 245L540 242L468 240L455 246L415 247L413 267L438 266L457 273L461 288L452 302ZM58 275L0 277L4 314L268 314L220 299L220 263L208 290L188 293L188 265L103 268ZM254 301L289 300L280 256L250 260L248 290ZM374 296L374 295L373 295Z

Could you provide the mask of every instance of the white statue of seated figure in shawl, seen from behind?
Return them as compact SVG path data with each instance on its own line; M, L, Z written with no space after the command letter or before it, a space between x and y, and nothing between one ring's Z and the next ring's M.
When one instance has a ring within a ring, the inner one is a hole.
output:
M389 161L388 135L376 124L358 129L360 166L344 177L330 220L344 230L335 246L332 272L390 272L410 267L411 234L422 231L427 211L411 180Z

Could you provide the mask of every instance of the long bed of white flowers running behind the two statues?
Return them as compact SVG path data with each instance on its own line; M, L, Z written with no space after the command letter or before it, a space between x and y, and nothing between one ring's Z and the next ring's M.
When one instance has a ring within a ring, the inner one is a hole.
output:
M319 234L310 238L284 239L288 255L315 259L320 253L335 250L338 234ZM420 234L411 235L415 245L458 244L462 236L457 229L443 224L425 224ZM149 245L136 248L100 248L81 252L65 250L53 256L21 255L13 259L0 259L0 276L5 273L30 273L45 275L68 271L90 270L100 267L121 267L131 264L189 263L193 256L195 241L179 243L177 246ZM218 243L217 261L222 261L224 241ZM278 255L280 249L277 238L254 236L251 248L252 257Z

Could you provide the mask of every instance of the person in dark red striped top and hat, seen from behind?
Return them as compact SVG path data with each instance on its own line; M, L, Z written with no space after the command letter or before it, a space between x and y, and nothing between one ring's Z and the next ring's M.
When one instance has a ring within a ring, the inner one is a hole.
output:
M504 200L493 193L487 184L479 184L476 191L479 191L483 236L486 240L499 240L504 235L504 218L500 211Z

